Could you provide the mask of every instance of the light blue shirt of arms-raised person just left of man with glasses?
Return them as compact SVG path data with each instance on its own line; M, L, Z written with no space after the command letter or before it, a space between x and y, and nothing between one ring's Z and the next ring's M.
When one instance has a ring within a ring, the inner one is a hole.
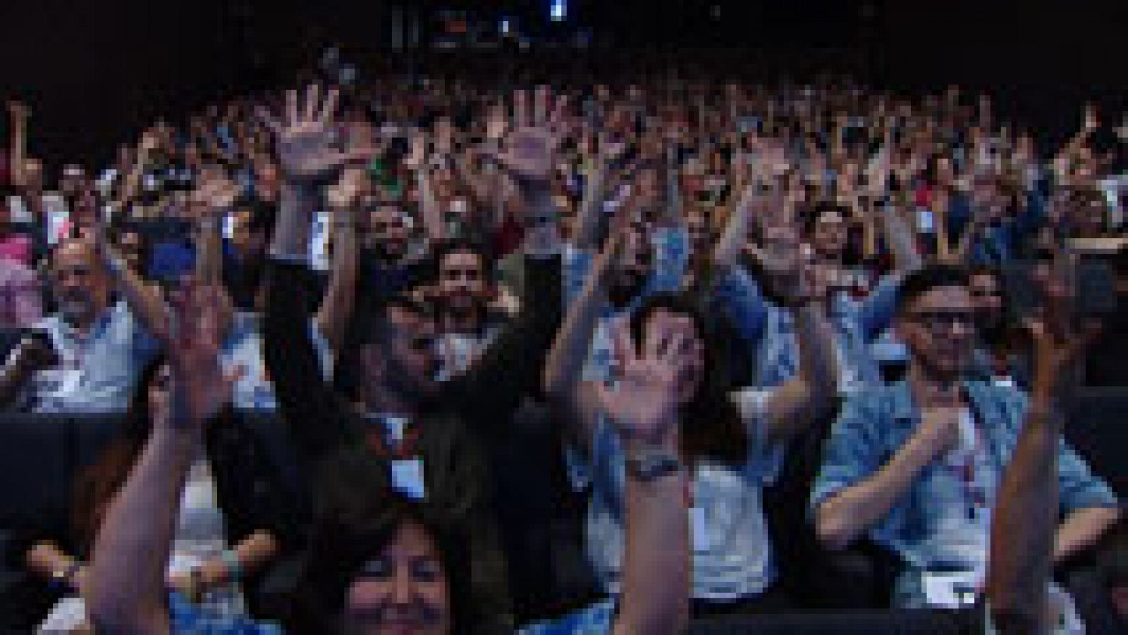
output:
M887 276L865 302L857 302L846 293L831 298L829 318L836 336L844 392L881 381L869 345L892 321L900 283L900 276ZM741 339L756 349L757 386L778 387L795 376L799 372L799 341L790 311L764 297L759 284L740 267L720 276L716 302Z

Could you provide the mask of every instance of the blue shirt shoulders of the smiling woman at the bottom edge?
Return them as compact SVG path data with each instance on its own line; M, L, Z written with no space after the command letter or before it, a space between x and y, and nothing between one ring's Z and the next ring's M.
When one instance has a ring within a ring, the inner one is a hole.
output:
M174 634L183 635L281 635L282 628L241 617L215 617L185 600L169 594L169 616ZM607 635L615 623L615 602L603 600L571 612L561 619L541 621L518 630L519 635Z

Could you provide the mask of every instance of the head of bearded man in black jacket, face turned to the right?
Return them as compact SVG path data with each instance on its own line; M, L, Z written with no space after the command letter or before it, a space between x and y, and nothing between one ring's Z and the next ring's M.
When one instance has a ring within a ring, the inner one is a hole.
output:
M382 393L425 406L439 388L435 323L423 305L397 296L358 314L351 347L356 355L361 395Z

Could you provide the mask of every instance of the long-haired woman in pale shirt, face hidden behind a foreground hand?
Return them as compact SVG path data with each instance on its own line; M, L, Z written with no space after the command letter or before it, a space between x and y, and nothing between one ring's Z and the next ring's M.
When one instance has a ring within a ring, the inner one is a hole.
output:
M607 417L607 402L629 379L615 384L581 382L580 368L603 302L607 280L619 251L613 236L588 280L584 295L573 304L549 354L545 393L557 406L581 459L573 474L576 485L592 489L588 513L589 557L605 590L614 592L623 566L623 484L637 457L627 454L635 436L631 427ZM765 267L782 274L784 268ZM788 267L799 272L797 262ZM783 278L783 275L778 275ZM662 346L655 332L672 329L688 363L677 377L678 447L676 458L693 475L690 525L693 528L693 598L695 615L757 612L784 608L787 598L775 584L761 491L770 484L782 463L782 444L802 430L834 403L832 350L825 323L821 296L808 294L801 276L779 285L781 299L795 312L800 340L796 378L768 399L751 391L729 393L717 375L721 345L706 329L697 307L686 299L660 295L650 298L620 324L616 357L634 347ZM660 349L659 349L660 350Z

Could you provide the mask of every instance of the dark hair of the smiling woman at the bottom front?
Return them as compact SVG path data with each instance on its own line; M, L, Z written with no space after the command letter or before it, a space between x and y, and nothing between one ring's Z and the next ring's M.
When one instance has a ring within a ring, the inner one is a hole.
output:
M386 466L365 453L344 455L320 475L310 548L287 630L336 632L358 571L378 556L402 527L415 524L439 552L457 632L470 632L474 605L468 527L451 520L449 510L395 493L388 486Z

